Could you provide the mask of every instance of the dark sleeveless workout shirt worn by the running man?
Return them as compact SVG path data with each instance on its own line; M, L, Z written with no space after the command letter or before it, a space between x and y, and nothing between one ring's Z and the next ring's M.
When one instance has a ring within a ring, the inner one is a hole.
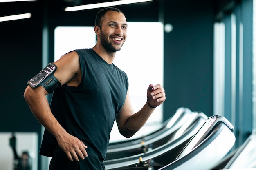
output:
M56 89L50 107L61 126L88 146L88 155L104 159L115 118L125 102L128 78L94 50L75 51L80 58L81 83ZM45 130L40 155L52 156L56 147L55 137Z

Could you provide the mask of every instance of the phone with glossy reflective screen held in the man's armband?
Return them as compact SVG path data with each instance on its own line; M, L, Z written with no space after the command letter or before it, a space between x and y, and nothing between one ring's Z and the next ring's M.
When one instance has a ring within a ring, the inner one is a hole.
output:
M42 71L40 71L37 75L31 78L27 82L27 84L29 84L29 86L31 86L32 88L36 88L40 84L40 82L42 82L50 74L54 73L55 70L56 70L56 65L51 62L45 68L43 68Z

